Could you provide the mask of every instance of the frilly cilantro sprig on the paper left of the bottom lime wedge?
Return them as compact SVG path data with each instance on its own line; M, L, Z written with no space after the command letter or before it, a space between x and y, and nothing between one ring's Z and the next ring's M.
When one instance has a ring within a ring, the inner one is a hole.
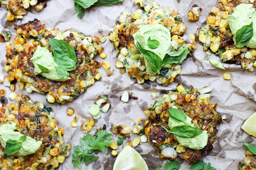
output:
M74 167L81 170L83 163L90 164L99 159L98 156L93 155L93 152L100 150L105 152L109 144L113 142L112 135L106 130L99 130L96 136L87 134L80 138L80 145L75 146L74 154L72 154L72 163Z

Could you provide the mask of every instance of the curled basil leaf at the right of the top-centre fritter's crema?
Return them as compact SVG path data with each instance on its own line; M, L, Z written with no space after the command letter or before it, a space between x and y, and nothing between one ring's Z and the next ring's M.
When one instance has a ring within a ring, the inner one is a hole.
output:
M177 64L177 63L183 61L184 59L186 59L187 55L188 55L188 48L186 46L184 46L181 51L171 51L171 52L169 52L165 55L165 57L163 58L161 66L163 66L167 63Z

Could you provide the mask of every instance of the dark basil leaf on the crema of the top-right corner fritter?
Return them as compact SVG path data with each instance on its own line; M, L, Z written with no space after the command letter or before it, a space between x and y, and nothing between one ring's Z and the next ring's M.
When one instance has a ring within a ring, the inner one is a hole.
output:
M236 32L236 47L242 48L247 44L253 36L253 23L245 25Z

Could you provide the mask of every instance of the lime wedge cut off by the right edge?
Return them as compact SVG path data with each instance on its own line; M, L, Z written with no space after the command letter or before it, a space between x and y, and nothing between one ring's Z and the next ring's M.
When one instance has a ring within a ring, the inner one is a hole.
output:
M241 128L249 135L256 137L256 112L245 120Z

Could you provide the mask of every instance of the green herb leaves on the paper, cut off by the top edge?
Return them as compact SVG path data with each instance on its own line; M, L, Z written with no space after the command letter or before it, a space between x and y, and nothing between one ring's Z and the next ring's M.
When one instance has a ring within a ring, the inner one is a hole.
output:
M83 9L87 9L92 5L96 6L109 6L116 4L117 2L122 2L123 0L74 0L75 10L78 12L77 17L82 19L84 12Z

